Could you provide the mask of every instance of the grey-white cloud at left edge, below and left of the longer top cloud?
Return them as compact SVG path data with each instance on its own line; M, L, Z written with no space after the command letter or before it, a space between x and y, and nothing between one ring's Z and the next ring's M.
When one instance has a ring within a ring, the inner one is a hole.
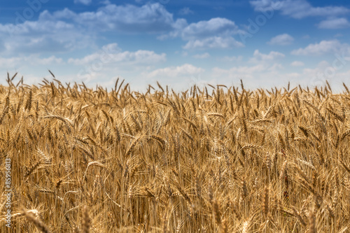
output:
M93 44L90 35L69 22L60 20L25 21L0 24L3 55L66 52Z

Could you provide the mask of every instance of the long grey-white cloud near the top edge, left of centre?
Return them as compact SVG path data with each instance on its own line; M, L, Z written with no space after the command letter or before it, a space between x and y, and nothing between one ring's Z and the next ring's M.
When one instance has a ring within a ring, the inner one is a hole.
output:
M138 34L170 31L176 28L176 24L183 22L174 21L172 13L160 3L146 3L144 6L107 3L92 12L74 13L64 9L51 14L44 11L40 18L73 21L81 27L95 31L112 30Z

